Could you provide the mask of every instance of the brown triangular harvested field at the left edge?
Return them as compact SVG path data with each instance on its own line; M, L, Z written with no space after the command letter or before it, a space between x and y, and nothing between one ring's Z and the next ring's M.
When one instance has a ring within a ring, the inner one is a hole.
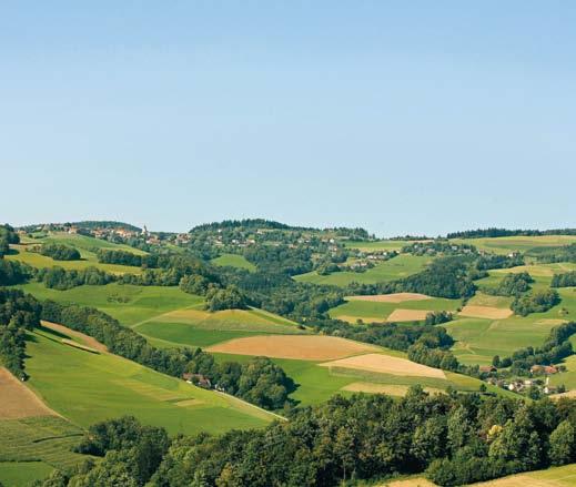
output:
M57 416L34 393L0 367L0 419Z

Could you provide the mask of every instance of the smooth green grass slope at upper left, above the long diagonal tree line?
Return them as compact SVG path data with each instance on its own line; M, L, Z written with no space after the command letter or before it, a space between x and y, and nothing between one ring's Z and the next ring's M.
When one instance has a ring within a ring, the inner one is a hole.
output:
M179 287L166 286L134 286L113 283L105 286L79 286L68 291L57 291L49 290L41 283L29 283L18 287L39 300L97 307L129 326L170 311L203 303L203 298L200 296L186 294Z

